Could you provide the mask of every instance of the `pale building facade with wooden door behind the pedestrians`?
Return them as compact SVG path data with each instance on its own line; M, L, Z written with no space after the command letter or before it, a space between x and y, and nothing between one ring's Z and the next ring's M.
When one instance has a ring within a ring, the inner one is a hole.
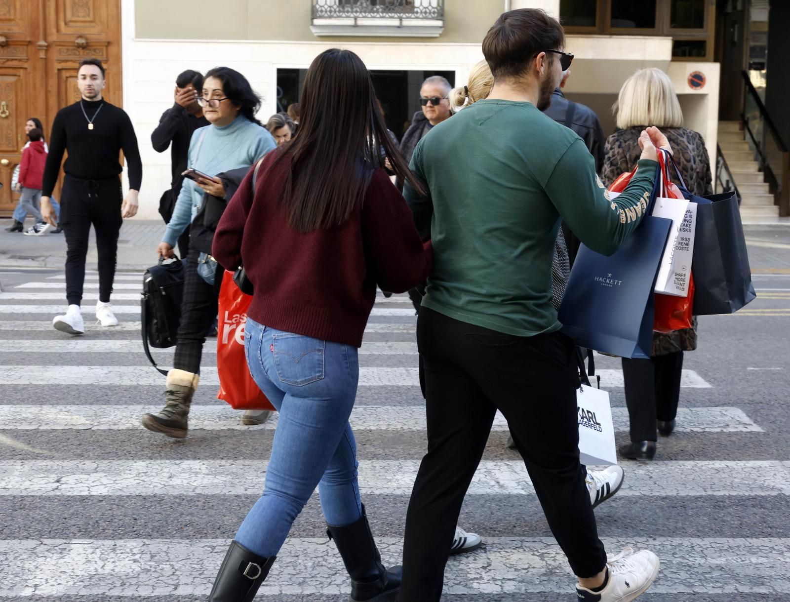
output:
M720 77L724 62L717 49L727 27L722 16L733 7L743 10L744 2L748 6L748 0L0 0L0 26L4 6L26 10L19 14L31 18L35 11L22 7L40 5L52 13L53 23L69 24L70 34L85 40L83 47L70 40L80 54L69 47L73 60L63 66L73 70L77 58L92 52L115 60L107 73L108 97L122 103L134 122L144 164L139 215L156 219L158 199L170 182L170 155L154 152L149 137L172 104L182 70L205 73L224 65L244 73L263 99L258 117L265 121L299 100L315 55L329 47L348 48L371 70L388 126L400 136L419 110L424 77L440 73L453 85L463 84L483 58L480 42L487 29L499 14L518 8L541 8L562 19L566 50L576 55L566 95L592 107L605 134L614 130L611 105L626 77L657 66L671 77L686 126L705 137L716 164L720 88L728 99L743 93L732 92ZM91 19L103 19L94 34L87 29ZM85 32L77 27L81 23ZM29 62L41 51L41 42L36 46L34 40L38 31L28 36ZM8 77L8 65L0 62L0 81ZM47 73L47 103L55 105L42 113L47 124L55 107L74 96L69 73ZM57 96L51 93L55 88ZM17 137L23 126L24 121L15 122ZM8 145L0 149L9 160L0 165L4 182L19 154L17 145ZM0 198L0 215L6 215L13 198L5 189L0 193L7 197Z

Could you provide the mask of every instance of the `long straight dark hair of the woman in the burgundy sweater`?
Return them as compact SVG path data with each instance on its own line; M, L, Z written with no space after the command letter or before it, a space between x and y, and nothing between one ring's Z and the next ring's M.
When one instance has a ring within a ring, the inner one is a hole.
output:
M352 51L331 48L314 59L299 109L299 130L269 167L291 164L280 201L292 228L343 224L385 157L396 175L424 194L387 134L367 67Z

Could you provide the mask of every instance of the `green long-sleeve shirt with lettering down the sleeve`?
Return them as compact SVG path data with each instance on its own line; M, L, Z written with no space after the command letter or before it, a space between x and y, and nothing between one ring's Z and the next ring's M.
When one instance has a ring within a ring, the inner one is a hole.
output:
M404 196L434 261L423 307L517 336L558 330L551 258L560 217L582 243L612 254L645 215L656 162L639 161L608 199L573 131L531 103L480 100L434 128L411 168L427 183Z

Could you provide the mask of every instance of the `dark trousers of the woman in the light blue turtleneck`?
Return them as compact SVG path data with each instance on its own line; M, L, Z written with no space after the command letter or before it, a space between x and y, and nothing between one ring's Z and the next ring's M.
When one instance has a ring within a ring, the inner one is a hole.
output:
M176 335L173 367L198 374L203 356L203 344L209 327L213 325L220 301L220 284L224 269L216 268L214 284L198 275L200 251L190 250L184 270L184 292L181 299L181 322Z

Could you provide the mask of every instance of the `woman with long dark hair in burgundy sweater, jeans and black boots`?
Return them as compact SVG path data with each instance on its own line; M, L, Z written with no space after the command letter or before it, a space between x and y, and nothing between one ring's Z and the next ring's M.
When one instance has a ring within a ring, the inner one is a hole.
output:
M412 215L383 168L423 190L378 111L371 77L351 51L328 50L307 70L299 130L248 175L220 220L213 254L243 265L254 285L245 348L250 373L280 419L265 490L220 567L210 600L252 600L316 486L348 574L351 600L389 600L386 570L359 499L348 417L358 348L382 290L427 277Z

